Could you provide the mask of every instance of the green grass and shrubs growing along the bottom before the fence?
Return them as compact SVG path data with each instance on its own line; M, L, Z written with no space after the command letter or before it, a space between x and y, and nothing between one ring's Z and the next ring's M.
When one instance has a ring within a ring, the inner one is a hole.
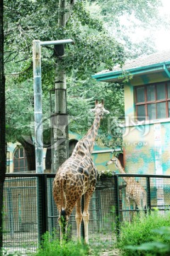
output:
M79 242L60 242L55 233L45 233L42 244L33 256L86 256L100 255L100 251L108 249L106 241L95 239L94 245L85 246ZM137 214L131 223L120 225L120 238L115 242L115 248L122 256L169 256L170 255L170 212L154 210ZM110 248L111 249L111 248ZM8 255L8 254L4 254ZM12 255L12 254L11 254ZM10 255L10 256L11 256ZM19 255L19 254L13 254ZM9 255L8 255L9 256Z

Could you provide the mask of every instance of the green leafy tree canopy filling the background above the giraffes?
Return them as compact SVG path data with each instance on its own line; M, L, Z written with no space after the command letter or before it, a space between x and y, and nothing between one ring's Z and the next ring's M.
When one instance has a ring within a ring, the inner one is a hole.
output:
M131 27L133 30L135 26L146 27L149 23L153 26L157 23L160 5L159 0L67 1L64 9L67 24L62 28L57 23L59 1L5 0L4 60L8 142L18 140L21 134L25 138L33 137L34 39L50 41L72 38L74 41L74 45L65 47L64 56L57 59L60 68L67 70L69 129L84 134L88 127L84 120L89 119L89 109L96 98L104 98L112 121L109 121L109 128L108 122L103 121L106 124L99 134L106 134L108 138L110 132L115 138L118 138L118 134L121 137L116 124L124 111L123 85L98 84L91 79L91 75L104 69L112 70L114 65L123 65L130 54L132 58L146 53L146 42L140 43L140 48L135 43L137 50L134 52L134 45L132 47L128 33L125 33L127 26L125 23L121 24L120 18L127 17L128 21L128 18L135 17L137 23ZM151 46L147 46L147 49L153 50ZM55 65L54 47L43 47L42 90L45 118L50 116L49 92L55 84ZM46 124L45 129L49 129ZM48 136L46 140L49 141ZM106 139L103 140L106 142Z

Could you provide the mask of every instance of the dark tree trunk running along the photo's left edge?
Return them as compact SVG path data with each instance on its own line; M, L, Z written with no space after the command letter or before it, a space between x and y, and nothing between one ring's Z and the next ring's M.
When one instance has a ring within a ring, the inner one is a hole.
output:
M6 108L5 108L5 75L4 75L4 1L0 3L0 255L2 255L3 238L3 192L6 174Z

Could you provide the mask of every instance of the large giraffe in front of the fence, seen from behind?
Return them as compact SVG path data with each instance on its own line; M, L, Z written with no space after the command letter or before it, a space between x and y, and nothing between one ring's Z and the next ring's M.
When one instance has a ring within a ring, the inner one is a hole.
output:
M97 170L91 159L94 142L105 110L103 100L95 102L94 123L87 134L77 142L72 156L59 167L53 183L53 196L59 212L60 238L67 233L67 224L76 206L77 238L81 239L80 226L84 220L84 242L88 243L89 203L96 187ZM81 196L84 195L84 212L81 213Z

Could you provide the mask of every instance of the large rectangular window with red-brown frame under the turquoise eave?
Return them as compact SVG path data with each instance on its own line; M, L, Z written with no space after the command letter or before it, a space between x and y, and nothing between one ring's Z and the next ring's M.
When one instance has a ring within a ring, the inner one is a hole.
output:
M140 121L170 117L170 82L136 86L135 106Z

